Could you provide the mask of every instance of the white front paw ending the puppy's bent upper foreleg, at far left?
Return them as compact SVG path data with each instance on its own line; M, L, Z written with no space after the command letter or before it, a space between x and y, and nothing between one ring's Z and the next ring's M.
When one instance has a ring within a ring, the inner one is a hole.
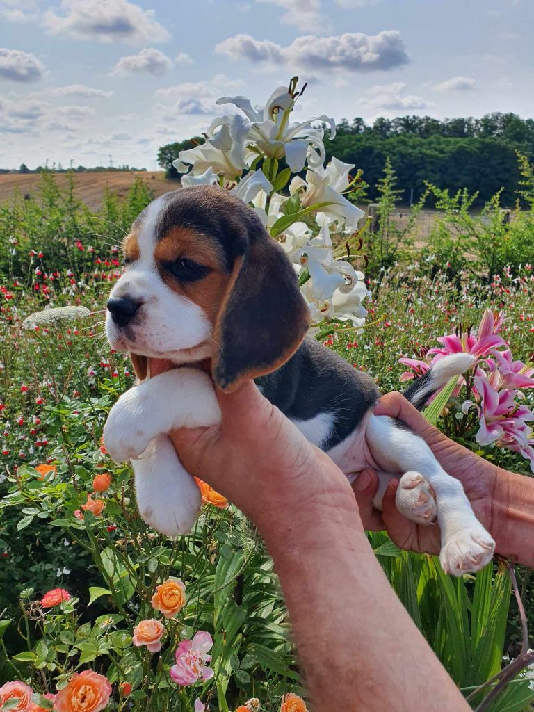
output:
M120 464L139 456L149 442L150 436L135 410L135 388L132 388L110 410L104 426L105 448L111 459Z

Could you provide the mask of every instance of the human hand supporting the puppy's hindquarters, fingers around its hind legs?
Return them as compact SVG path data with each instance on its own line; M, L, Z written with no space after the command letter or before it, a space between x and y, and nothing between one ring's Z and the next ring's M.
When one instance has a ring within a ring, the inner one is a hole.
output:
M426 441L444 470L461 481L476 517L499 541L501 519L496 515L502 513L503 508L495 506L496 488L499 480L508 473L449 439L429 424L400 393L389 393L379 399L375 414L402 420ZM439 527L419 525L399 513L395 506L397 486L397 480L389 483L380 512L372 504L378 487L377 473L369 469L360 473L352 488L364 527L387 530L392 541L402 549L438 554Z

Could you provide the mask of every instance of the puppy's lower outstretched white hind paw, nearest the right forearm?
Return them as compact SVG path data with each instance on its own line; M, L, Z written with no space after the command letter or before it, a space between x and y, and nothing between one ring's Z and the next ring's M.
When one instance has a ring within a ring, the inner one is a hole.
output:
M439 560L446 574L461 576L483 569L491 561L494 551L493 538L477 522L450 535L441 546Z

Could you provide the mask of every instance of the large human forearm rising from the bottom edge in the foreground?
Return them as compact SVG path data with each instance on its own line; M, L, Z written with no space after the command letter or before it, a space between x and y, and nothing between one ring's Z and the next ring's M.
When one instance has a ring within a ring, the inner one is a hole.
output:
M352 496L328 493L258 526L281 580L314 708L468 706L394 595Z

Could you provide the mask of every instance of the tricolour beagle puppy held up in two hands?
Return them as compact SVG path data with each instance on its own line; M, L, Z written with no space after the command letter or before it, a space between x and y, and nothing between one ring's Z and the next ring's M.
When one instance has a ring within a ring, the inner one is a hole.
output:
M477 571L491 560L495 543L461 483L407 426L373 414L379 392L370 376L306 336L309 313L294 268L241 199L214 186L164 194L134 221L123 250L106 333L112 348L130 351L139 383L112 407L104 441L117 463L131 461L148 524L169 536L192 528L199 488L167 434L217 424L214 388L231 392L252 378L347 476L379 471L377 506L389 479L400 476L397 507L418 523L437 520L445 572ZM151 378L150 357L177 367ZM211 378L188 367L206 360ZM444 357L404 395L422 407L473 360Z

